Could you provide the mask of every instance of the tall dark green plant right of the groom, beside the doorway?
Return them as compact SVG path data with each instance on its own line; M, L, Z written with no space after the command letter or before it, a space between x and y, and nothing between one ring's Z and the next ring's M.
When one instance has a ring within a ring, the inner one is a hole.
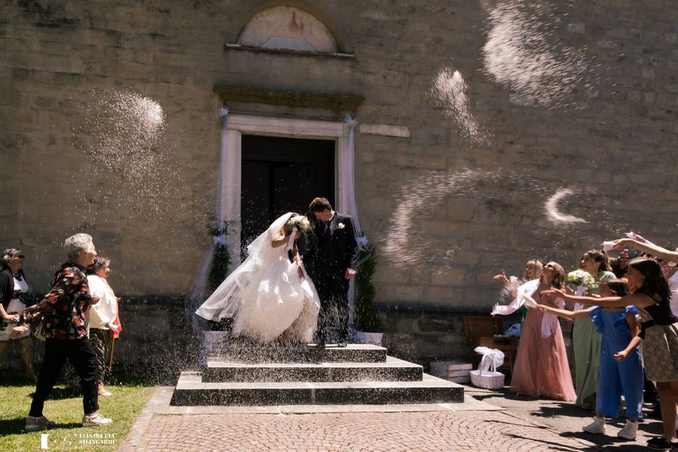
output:
M361 246L358 262L361 262L355 275L355 325L358 331L379 333L381 320L374 308L374 283L372 277L376 270L376 251L373 244Z

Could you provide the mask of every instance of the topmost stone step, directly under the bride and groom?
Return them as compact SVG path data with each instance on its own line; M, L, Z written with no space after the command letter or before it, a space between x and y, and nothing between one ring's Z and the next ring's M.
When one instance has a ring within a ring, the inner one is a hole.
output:
M211 347L210 359L249 363L386 362L386 348L370 344L349 344L347 347L328 344L318 350L314 345L305 344L275 347L230 343L225 347Z

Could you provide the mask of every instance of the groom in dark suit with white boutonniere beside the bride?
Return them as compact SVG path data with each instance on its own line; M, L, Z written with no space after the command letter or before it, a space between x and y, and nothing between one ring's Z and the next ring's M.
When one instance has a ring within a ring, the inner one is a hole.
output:
M358 245L348 215L332 210L326 198L315 198L309 206L316 217L317 240L304 254L304 263L320 296L318 346L324 347L327 328L334 313L339 319L339 347L348 342L348 285L355 276Z

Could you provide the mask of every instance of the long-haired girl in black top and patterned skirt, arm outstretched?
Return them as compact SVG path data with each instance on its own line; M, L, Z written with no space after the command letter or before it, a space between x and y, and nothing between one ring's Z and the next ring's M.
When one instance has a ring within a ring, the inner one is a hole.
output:
M664 436L650 439L648 447L665 450L678 447L676 439L676 403L678 403L678 323L671 312L671 291L657 261L634 258L629 261L629 285L635 293L624 297L575 297L562 290L546 290L545 295L560 295L582 304L623 308L633 304L641 315L641 333L625 350L615 355L625 359L643 342L643 364L648 379L657 383L662 409Z

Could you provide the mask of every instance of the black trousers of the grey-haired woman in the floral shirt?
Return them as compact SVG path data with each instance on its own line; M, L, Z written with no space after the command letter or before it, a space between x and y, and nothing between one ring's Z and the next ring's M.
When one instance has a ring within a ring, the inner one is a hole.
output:
M57 382L61 367L68 359L80 376L83 389L83 410L90 415L99 410L97 394L97 355L92 349L89 338L44 341L44 357L42 368L37 377L37 387L30 404L29 416L42 416L44 400Z

